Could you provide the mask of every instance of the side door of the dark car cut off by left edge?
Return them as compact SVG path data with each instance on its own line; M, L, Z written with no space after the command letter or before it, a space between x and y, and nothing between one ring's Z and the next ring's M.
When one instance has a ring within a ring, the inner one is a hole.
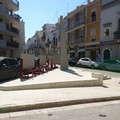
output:
M9 78L8 60L0 61L0 80Z

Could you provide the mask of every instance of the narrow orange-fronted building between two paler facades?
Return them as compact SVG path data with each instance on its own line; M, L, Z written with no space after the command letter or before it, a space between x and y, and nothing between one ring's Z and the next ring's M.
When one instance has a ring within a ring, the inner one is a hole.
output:
M88 0L86 23L86 56L93 60L100 58L100 14L101 1Z

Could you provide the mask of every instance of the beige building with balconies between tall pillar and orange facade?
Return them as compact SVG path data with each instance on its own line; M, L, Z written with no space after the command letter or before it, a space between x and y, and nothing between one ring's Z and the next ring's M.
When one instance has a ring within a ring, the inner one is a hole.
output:
M86 5L68 13L65 17L67 22L68 54L70 57L79 59L85 56L85 31L86 31Z

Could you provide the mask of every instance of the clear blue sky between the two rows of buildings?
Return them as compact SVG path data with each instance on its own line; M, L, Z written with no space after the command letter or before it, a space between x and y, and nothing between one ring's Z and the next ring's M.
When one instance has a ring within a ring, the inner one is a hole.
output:
M86 0L18 0L18 14L25 22L25 39L32 37L37 30L42 30L46 23L55 24L60 15L76 9Z

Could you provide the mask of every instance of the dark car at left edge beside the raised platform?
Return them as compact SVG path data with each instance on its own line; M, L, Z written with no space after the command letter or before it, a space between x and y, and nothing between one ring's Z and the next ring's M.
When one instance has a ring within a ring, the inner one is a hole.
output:
M18 77L20 75L19 63L10 57L0 57L0 80Z

